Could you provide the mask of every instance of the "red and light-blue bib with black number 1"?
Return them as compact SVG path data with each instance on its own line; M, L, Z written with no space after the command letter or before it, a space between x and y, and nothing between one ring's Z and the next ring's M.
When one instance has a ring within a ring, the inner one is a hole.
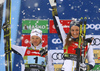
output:
M27 48L23 59L24 59L25 65L31 65L31 66L32 65L39 65L39 66L46 65L46 58L45 56L40 55L39 50L33 50L33 49Z

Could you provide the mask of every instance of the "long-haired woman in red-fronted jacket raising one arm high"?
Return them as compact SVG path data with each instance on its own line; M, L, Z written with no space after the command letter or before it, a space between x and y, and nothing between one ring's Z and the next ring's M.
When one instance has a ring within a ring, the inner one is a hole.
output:
M62 66L62 71L76 71L77 67L77 54L76 54L76 48L78 48L78 38L79 38L79 30L80 25L79 21L72 20L70 23L70 31L66 35L58 17L57 13L57 7L56 7L56 0L49 0L50 5L52 7L52 16L55 28L57 30L57 33L59 35L59 38L61 39L63 43L63 49L64 49L64 64ZM94 54L93 54L93 48L90 47L91 45L86 45L85 47L85 56L88 60L88 65L82 65L80 64L81 68L87 68L87 70L91 70L95 66L94 61ZM89 49L88 49L89 48ZM87 52L88 51L88 52Z

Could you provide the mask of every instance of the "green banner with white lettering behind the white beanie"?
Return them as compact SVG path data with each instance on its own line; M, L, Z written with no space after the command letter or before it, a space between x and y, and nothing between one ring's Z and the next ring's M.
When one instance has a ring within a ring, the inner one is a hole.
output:
M31 33L34 28L42 30L42 33L48 33L48 20L22 20L22 33Z

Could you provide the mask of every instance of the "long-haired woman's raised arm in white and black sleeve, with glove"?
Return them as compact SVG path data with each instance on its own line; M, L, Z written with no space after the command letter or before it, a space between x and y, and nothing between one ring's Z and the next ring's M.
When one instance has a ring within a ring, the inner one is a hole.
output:
M50 5L52 7L52 16L53 16L53 21L54 21L54 26L56 28L56 31L58 33L58 36L60 40L63 42L63 45L65 44L65 38L66 38L66 33L63 29L63 26L60 23L58 13L57 13L57 7L56 7L56 0L49 0Z

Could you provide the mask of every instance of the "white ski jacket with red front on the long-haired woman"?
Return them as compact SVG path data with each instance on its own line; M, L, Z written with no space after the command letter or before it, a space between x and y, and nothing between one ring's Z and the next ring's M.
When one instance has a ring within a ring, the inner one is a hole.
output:
M56 12L56 11L55 11ZM53 13L53 21L54 21L54 25L55 25L55 28L56 28L56 30L57 30L57 34L59 35L59 38L60 38L60 40L62 41L62 43L63 43L63 47L65 46L65 39L66 39L66 37L67 37L67 35L66 35L66 33L65 33L65 31L64 31L64 29L63 29L63 26L61 25L61 23L60 23L60 20L59 20L59 17L58 17L58 15L57 15L57 12L56 13ZM73 45L75 45L77 42L74 42L73 43ZM78 43L75 45L75 46L77 46L78 45ZM66 53L66 54L75 54L75 50L74 51L72 51L73 50L73 48L77 48L77 47L70 47L70 48L68 48L68 49L65 49L64 48L64 53ZM95 61L94 61L94 54L93 54L93 48L91 47L91 45L88 47L89 48L89 50L88 50L88 52L87 52L87 59L88 59L88 63L90 64L90 65L95 65ZM87 49L86 49L87 50Z

